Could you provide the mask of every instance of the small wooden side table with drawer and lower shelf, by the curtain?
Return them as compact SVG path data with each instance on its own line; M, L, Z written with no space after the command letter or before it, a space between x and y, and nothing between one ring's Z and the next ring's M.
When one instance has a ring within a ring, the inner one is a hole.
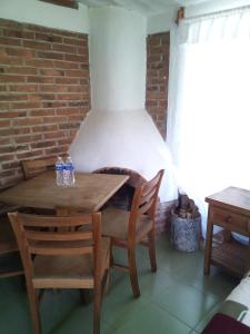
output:
M231 237L231 232L250 236L250 191L229 187L206 198L209 204L207 240L204 252L204 274L210 265L220 266L237 276L250 268L250 246ZM223 228L221 237L213 237L213 225Z

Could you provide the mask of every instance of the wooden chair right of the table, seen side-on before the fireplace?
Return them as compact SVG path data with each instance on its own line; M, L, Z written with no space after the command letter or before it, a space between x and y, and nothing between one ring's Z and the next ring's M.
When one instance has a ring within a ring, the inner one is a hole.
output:
M102 234L111 238L111 254L113 246L128 249L128 266L116 264L112 255L111 266L129 273L134 297L140 296L137 244L141 243L149 248L151 271L157 271L154 215L162 176L163 170L160 170L153 179L136 188L130 212L112 207L102 212Z

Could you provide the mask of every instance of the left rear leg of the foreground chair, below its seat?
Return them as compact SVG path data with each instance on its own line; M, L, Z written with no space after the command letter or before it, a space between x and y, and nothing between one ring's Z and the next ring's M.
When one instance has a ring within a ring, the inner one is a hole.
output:
M31 322L32 322L32 334L41 334L41 322L39 316L39 306L38 306L38 298L36 295L36 289L31 284L27 284L27 291L29 296L30 303L30 314L31 314Z

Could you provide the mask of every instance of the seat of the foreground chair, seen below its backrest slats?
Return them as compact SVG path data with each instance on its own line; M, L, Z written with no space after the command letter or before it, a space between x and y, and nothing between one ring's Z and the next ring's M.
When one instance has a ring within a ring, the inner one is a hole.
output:
M102 275L109 266L110 239L102 238ZM90 255L38 255L34 258L33 285L37 288L93 287L93 259Z

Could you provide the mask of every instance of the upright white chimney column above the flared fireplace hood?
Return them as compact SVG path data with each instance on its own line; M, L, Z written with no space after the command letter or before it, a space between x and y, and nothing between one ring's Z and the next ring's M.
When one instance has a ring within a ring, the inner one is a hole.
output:
M89 21L92 109L143 108L146 18L104 7L90 9Z

